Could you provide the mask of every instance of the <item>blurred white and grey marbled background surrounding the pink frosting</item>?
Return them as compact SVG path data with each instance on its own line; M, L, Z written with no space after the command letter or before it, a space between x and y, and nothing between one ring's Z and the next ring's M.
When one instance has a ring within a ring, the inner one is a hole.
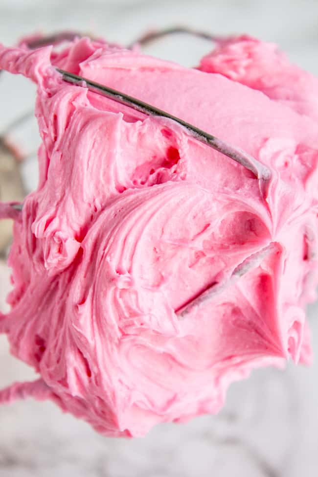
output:
M184 25L211 34L249 33L276 42L318 74L318 1L0 0L0 42L33 32L89 32L129 45L149 29ZM211 47L175 35L144 51L195 66ZM0 76L0 200L37 184L34 86ZM17 119L23 118L20 122ZM12 148L18 144L18 150ZM23 159L23 160L22 160ZM0 309L10 271L10 223L0 225ZM145 438L109 439L53 404L32 400L0 408L0 477L314 477L318 475L318 304L308 309L316 353L311 368L262 369L231 386L225 408L185 425L160 425ZM0 387L33 379L0 336Z

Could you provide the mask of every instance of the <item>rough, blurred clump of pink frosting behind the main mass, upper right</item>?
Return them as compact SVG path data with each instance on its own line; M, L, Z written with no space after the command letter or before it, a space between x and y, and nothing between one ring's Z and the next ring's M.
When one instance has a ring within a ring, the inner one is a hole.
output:
M274 43L248 35L221 40L199 69L220 73L318 120L318 78L291 64Z

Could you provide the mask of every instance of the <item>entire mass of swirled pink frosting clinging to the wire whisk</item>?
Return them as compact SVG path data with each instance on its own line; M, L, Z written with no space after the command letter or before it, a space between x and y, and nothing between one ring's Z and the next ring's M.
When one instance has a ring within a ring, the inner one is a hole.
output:
M255 367L310 363L318 80L276 58L245 37L202 70L86 38L61 52L0 45L0 68L38 84L42 137L37 190L21 213L0 206L15 218L0 331L39 379L0 402L49 398L106 435L140 436L217 412ZM271 170L267 194L178 124L69 85L53 66L244 149Z

